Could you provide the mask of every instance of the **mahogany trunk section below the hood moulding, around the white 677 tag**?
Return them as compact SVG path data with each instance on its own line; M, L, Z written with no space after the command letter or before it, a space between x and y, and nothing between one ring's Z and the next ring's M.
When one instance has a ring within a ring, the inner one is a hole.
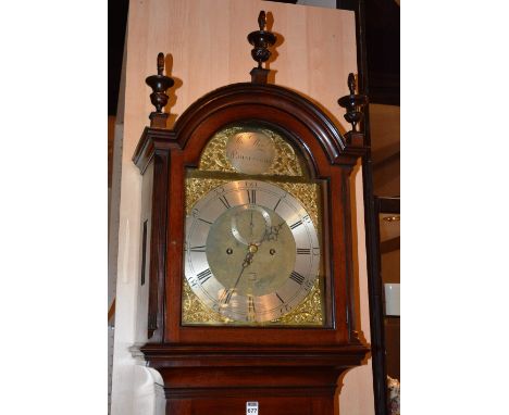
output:
M173 374L172 374L173 373ZM324 367L171 368L166 413L236 415L257 401L266 415L333 414L338 370ZM269 375L269 376L268 376Z

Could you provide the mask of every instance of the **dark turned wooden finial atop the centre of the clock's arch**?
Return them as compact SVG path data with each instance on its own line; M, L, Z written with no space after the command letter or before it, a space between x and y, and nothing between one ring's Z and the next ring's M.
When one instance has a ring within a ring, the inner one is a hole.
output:
M269 30L265 30L266 15L262 10L258 15L258 26L260 30L251 32L248 35L249 43L254 48L251 50L252 59L258 62L258 67L253 67L250 72L251 80L256 84L266 84L266 76L269 70L262 67L262 63L266 62L271 58L271 51L269 50L275 42L277 37Z

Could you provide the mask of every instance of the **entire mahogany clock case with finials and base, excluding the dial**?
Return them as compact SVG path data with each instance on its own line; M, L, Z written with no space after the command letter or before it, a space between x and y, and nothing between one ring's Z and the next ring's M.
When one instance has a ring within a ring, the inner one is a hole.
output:
M271 37L262 24L258 33L263 33L266 49ZM251 35L249 40L256 43L257 37ZM133 347L132 352L161 374L167 414L244 413L249 400L258 401L265 415L333 414L338 377L360 365L369 352L359 340L353 315L349 189L350 173L365 152L363 134L353 125L343 136L311 101L266 84L269 71L261 62L268 56L254 53L257 48L263 49L254 43L252 54L259 66L251 71L251 83L206 95L178 117L173 129L165 128L169 115L162 112L167 102L165 90L173 85L162 75L162 53L158 75L147 78L157 111L150 114L151 126L145 128L133 161L144 176L149 167L151 171L150 180L144 177L148 197L142 201L142 215L150 217L151 229L146 268L149 340ZM350 92L350 98L362 97L355 96L351 88ZM215 131L253 120L284 131L305 155L312 176L328 183L324 206L328 227L323 240L331 246L327 267L333 277L325 286L326 327L181 324L186 168L198 166Z

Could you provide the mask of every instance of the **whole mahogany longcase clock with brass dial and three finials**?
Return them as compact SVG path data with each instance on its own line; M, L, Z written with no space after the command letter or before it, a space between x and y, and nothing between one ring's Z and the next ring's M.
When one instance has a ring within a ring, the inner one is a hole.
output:
M275 35L248 36L251 81L216 89L165 128L156 112L133 158L144 175L148 342L167 414L333 414L338 377L361 364L352 312L349 175L365 150L362 96L339 100L352 130L266 83ZM252 412L254 413L254 412Z

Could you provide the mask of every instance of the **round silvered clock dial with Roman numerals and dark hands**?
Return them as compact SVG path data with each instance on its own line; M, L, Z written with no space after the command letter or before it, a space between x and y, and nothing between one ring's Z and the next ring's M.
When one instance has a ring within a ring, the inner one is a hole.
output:
M308 212L291 194L264 181L237 180L193 206L185 264L206 306L257 324L303 301L319 272L320 246Z

